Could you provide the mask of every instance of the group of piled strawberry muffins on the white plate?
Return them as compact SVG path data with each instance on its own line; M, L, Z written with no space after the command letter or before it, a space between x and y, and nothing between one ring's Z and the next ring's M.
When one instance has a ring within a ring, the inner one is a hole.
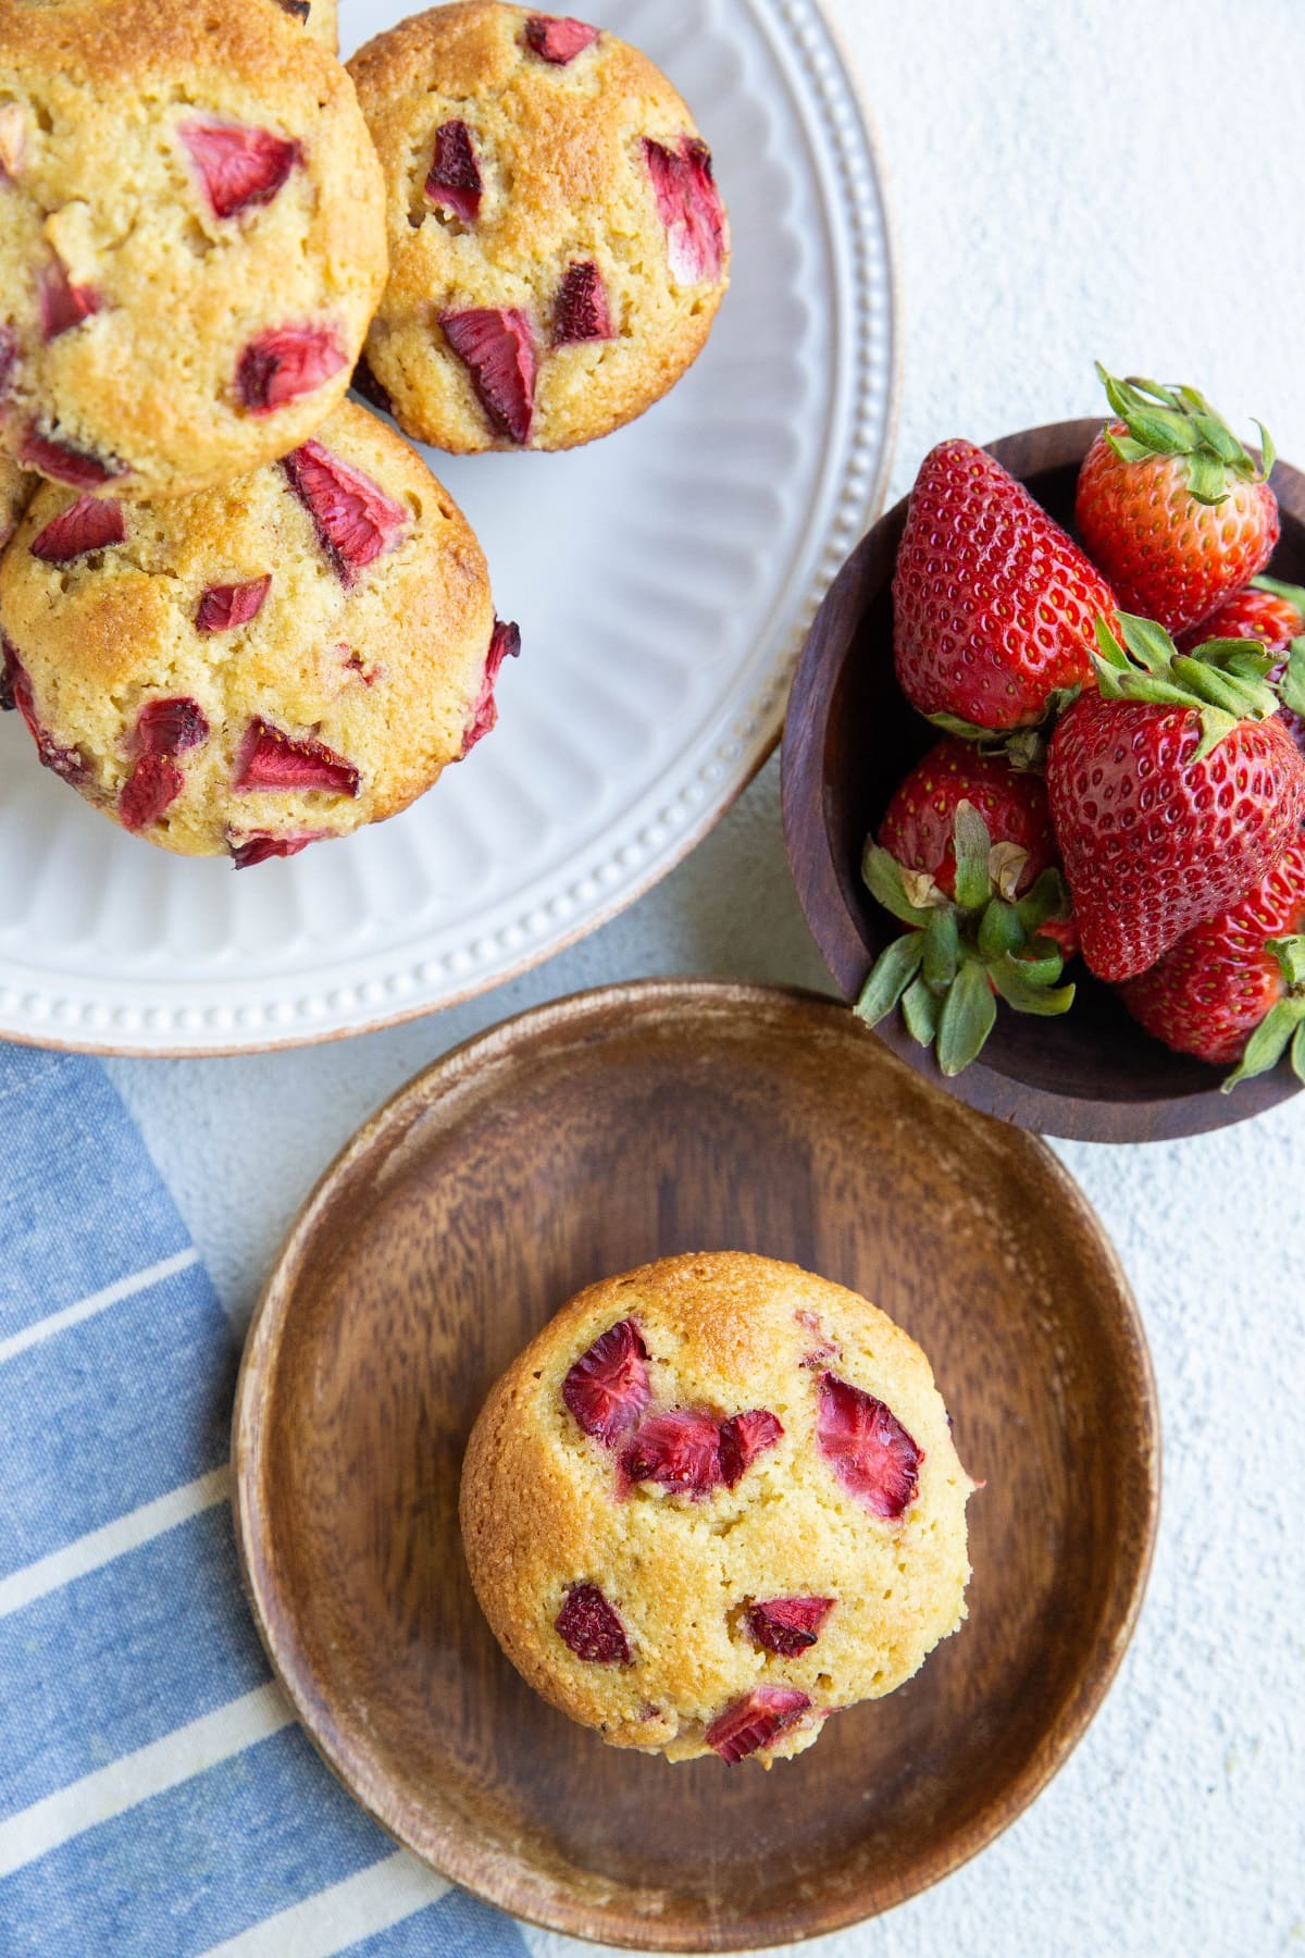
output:
M405 437L630 421L728 229L671 84L577 20L464 0L344 70L333 0L0 0L0 707L245 867L495 724L518 632Z

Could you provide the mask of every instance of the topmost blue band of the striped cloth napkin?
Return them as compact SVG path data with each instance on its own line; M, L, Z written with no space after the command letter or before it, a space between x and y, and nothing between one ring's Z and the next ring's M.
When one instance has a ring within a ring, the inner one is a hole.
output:
M102 1067L0 1046L0 1339L186 1249Z

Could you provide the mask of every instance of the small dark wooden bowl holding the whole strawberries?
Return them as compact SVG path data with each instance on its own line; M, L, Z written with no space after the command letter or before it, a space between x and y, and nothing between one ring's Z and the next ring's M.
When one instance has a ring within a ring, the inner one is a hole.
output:
M988 452L1060 523L1074 519L1078 466L1100 417L1057 421L990 443ZM1305 476L1278 464L1282 542L1274 574L1305 582ZM861 540L832 585L798 662L783 746L788 862L826 965L847 999L902 926L861 881L861 852L908 769L941 740L902 695L892 668L892 570L906 501ZM1084 1142L1152 1142L1242 1122L1295 1095L1289 1067L1223 1095L1227 1069L1172 1053L1115 993L1074 965L1078 997L1058 1020L1002 1008L982 1051L947 1081L900 1014L877 1028L902 1059L947 1093L1021 1128Z

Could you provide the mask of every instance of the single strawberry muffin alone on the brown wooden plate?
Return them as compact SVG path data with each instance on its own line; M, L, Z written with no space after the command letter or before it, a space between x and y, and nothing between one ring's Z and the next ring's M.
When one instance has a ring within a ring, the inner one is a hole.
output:
M743 1253L573 1298L472 1433L462 1533L503 1651L614 1747L798 1754L965 1617L929 1363L857 1292Z

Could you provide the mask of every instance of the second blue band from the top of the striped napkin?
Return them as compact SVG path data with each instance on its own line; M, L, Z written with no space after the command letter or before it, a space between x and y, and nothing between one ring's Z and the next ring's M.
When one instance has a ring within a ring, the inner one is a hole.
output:
M0 1361L0 1576L225 1461L235 1363L200 1265Z

